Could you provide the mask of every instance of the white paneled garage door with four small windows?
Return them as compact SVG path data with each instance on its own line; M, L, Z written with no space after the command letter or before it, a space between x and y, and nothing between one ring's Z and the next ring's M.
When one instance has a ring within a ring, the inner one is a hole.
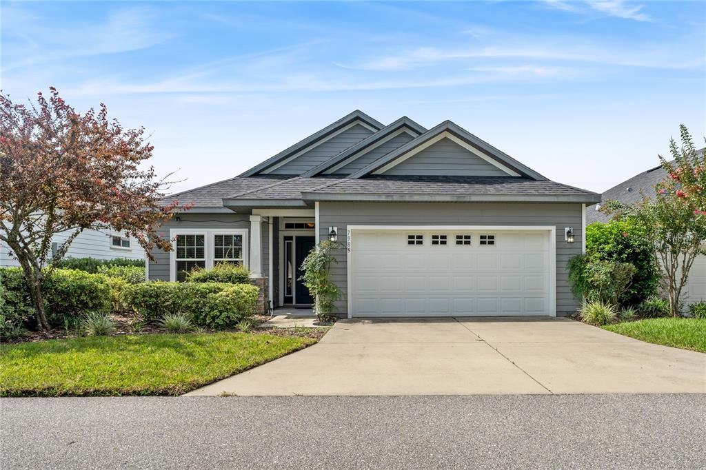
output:
M549 315L549 233L352 230L352 316Z

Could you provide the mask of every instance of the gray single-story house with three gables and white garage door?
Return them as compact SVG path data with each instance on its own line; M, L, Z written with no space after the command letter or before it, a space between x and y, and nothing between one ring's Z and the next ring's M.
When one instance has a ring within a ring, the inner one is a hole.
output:
M549 181L450 121L384 126L356 111L170 200L195 206L161 227L176 249L153 253L150 279L244 263L273 306L310 306L301 262L333 232L345 247L331 268L340 315L565 315L579 306L566 263L600 195Z

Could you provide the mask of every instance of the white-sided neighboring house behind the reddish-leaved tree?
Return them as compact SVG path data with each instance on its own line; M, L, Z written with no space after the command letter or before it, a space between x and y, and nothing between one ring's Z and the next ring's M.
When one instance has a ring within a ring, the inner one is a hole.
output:
M52 239L52 253L59 249L61 243L68 239L68 232L56 234ZM137 243L124 234L111 230L84 230L71 245L64 258L96 258L98 260L112 260L114 258L128 258L131 260L144 260L145 251ZM4 241L0 241L0 266L19 266L20 263L13 258L12 251Z

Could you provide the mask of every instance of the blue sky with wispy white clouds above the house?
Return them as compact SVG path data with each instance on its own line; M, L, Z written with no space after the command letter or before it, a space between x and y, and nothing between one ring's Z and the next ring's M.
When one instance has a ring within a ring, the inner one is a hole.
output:
M1 88L144 126L173 190L235 176L361 109L451 119L604 191L706 128L706 3L1 1Z

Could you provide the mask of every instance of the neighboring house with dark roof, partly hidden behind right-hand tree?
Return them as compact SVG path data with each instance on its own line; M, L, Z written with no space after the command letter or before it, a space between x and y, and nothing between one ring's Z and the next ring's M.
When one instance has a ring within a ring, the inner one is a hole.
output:
M702 150L699 150L702 152ZM655 194L654 186L666 179L666 171L660 165L647 171L633 176L632 178L623 181L610 188L602 194L601 200L618 200L624 204L635 204L640 201L643 195L653 197ZM586 223L593 222L608 222L610 217L603 212L599 212L600 204L587 207ZM694 264L689 272L688 282L686 284L686 292L684 299L687 303L695 301L706 301L706 256L699 256L694 260Z

